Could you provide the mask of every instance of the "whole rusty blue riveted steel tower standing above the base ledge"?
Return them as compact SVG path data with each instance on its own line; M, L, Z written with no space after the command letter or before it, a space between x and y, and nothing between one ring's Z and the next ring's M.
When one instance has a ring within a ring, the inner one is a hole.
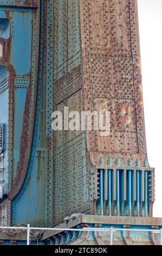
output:
M0 1L3 19L10 36L0 38L8 70L0 99L9 99L0 223L53 227L76 212L152 216L137 1ZM110 111L110 135L52 131L51 114L65 106Z

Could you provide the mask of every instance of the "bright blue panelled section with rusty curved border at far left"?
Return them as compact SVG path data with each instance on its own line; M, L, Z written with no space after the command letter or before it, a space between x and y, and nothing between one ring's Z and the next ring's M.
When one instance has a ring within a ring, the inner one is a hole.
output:
M0 22L4 19L10 24L9 36L3 37L2 34L0 39L2 45L0 62L9 71L9 102L6 101L5 104L9 117L9 121L5 120L8 147L5 150L7 154L5 158L8 164L5 171L7 178L4 190L5 197L9 194L9 199L6 201L8 206L21 188L30 155L38 61L38 12L33 9L36 5L36 1L29 1L28 4L25 1L1 1L0 6ZM5 100L4 93L6 94L7 90L1 94L3 100ZM5 204L4 201L4 205L1 206L4 209ZM15 206L15 203L13 205ZM10 209L8 208L4 223L9 221ZM15 221L18 222L18 218L15 220L14 216L12 223Z

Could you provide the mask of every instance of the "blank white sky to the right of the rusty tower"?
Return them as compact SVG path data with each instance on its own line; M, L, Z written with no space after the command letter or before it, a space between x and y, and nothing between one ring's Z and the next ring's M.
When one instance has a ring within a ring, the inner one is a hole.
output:
M155 167L154 217L162 217L162 0L138 0L148 161Z

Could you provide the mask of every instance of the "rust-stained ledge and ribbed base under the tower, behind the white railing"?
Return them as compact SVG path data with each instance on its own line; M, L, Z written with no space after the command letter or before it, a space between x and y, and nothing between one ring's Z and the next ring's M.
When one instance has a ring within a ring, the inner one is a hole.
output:
M96 224L97 223L97 224ZM56 226L56 228L64 229L82 229L95 228L95 231L59 231L44 230L42 236L37 240L35 237L31 239L31 245L35 241L39 245L110 245L111 235L109 231L97 231L98 228L124 229L113 232L113 245L159 245L160 235L154 233L162 227L161 218L137 218L137 217L108 217L108 216L88 216L81 215L79 217L69 219L67 222ZM127 230L129 229L129 230ZM130 230L132 229L132 230ZM133 230L135 229L135 230ZM145 231L138 231L143 229ZM152 231L147 231L147 230ZM8 230L10 231L10 230ZM0 232L0 239L3 245L20 243L25 245L27 234L18 232L9 235L4 230Z

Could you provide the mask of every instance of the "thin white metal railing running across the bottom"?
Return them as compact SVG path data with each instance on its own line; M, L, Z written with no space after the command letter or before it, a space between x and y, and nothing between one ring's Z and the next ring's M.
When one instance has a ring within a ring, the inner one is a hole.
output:
M43 231L100 231L100 232L110 232L110 245L113 245L113 233L116 231L142 231L142 232L152 232L160 234L160 245L162 245L162 228L161 229L129 229L129 228L33 228L30 227L30 224L27 227L0 227L1 229L15 229L15 230L27 230L27 245L30 245L30 231L31 230L43 230Z

